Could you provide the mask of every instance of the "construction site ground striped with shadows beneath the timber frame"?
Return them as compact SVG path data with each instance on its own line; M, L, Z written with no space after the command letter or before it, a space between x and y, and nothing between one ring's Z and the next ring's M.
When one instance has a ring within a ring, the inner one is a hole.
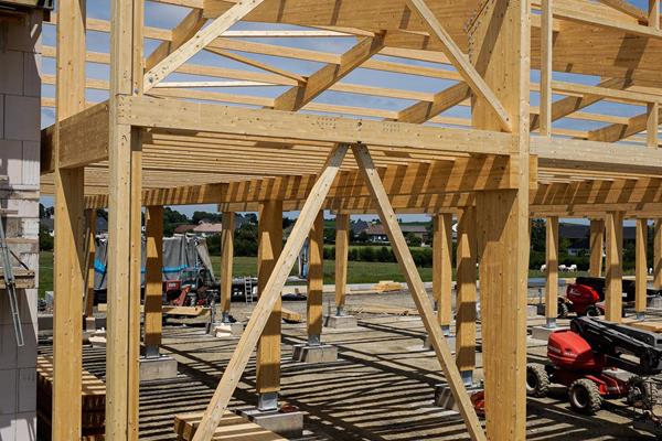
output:
M532 298L537 290L530 292ZM324 294L324 310L333 295ZM414 310L407 292L348 297L348 306L384 305ZM232 313L246 321L254 304L233 302ZM306 302L284 302L306 314ZM463 440L469 439L458 413L434 405L435 385L444 381L431 351L423 347L425 329L417 315L359 313L359 327L324 329L322 341L339 351L339 361L308 365L291 361L293 344L305 343L306 324L282 325L281 402L306 413L303 440ZM528 326L544 319L528 320ZM559 321L567 324L567 321ZM480 324L478 369L482 378ZM201 320L169 320L163 327L162 353L179 362L179 376L140 386L140 439L177 440L173 417L202 411L218 383L238 338L205 334ZM42 354L52 352L42 340ZM528 362L546 359L546 343L528 338ZM105 377L104 348L84 347L84 368ZM256 405L255 364L249 363L231 401L231 410ZM564 388L549 398L527 400L528 440L653 440L631 428L631 409L615 400L596 416L574 412Z

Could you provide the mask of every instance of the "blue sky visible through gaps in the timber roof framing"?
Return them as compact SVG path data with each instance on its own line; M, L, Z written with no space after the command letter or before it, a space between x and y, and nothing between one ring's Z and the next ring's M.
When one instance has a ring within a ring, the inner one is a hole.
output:
M631 3L645 9L648 8L648 0L631 0ZM94 0L88 1L87 13L90 18L96 19L109 19L110 11L110 2L109 0ZM146 2L146 25L147 26L156 26L156 28L166 28L172 29L174 28L183 17L188 13L188 9L179 8L174 6L153 3L150 1ZM275 25L267 23L238 23L233 28L233 30L269 30L269 29L300 29L297 26L290 25ZM279 45L291 45L300 49L309 49L317 50L330 53L342 53L349 50L353 44L355 44L356 40L353 37L334 37L334 39L246 39L248 41L256 41L261 43L269 44L279 44ZM45 45L54 46L55 45L55 28L45 25L43 32L43 43ZM158 41L146 40L145 42L145 53L148 55L154 47L159 44ZM108 52L109 47L109 35L100 32L88 32L87 33L87 50L95 52ZM322 67L321 63L307 62L307 61L298 61L282 57L274 57L267 55L256 55L256 54L246 54L242 55L265 62L267 64L271 64L277 67L281 67L289 72L293 72L300 75L310 75L316 72L320 67ZM385 61L397 61L398 63L412 64L412 65L423 65L430 66L436 68L449 68L445 65L418 62L412 60L404 58L392 58L387 56L377 55L375 58L381 58ZM258 68L254 68L250 66L246 66L242 63L234 62L232 60L224 58L222 56L211 54L202 51L200 54L195 55L192 60L192 63L196 64L206 64L214 65L220 67L229 67L237 69L249 69L256 72L263 72ZM98 79L107 79L108 78L108 66L92 64L88 63L86 66L87 76L90 78ZM47 75L55 75L55 61L52 58L43 58L43 73ZM555 73L554 78L558 80L572 80L583 84L595 85L599 82L598 77L589 77L589 76L580 76L573 74L564 74L564 73ZM215 79L218 78L205 78L200 76L191 76L191 75L182 75L182 74L172 74L167 80L203 80L203 79ZM540 74L537 71L532 72L531 76L532 82L540 80ZM386 72L371 71L359 68L351 73L343 82L353 83L353 84L363 84L371 85L376 87L392 87L398 89L406 90L415 90L415 92L425 92L425 93L437 93L449 86L451 86L455 82L436 79L436 78L426 78L420 76L412 76L412 75L401 75L393 74ZM206 90L217 90L217 92L226 92L226 93L236 93L241 95L254 95L254 96L265 96L265 97L276 97L285 92L287 87L281 86L269 86L269 87L242 87L232 89L206 89ZM42 94L44 97L54 97L54 87L53 86L43 86ZM88 90L87 99L89 101L102 101L107 99L108 95L106 92L99 90ZM563 98L560 96L555 96L554 99ZM334 105L345 105L345 106L356 106L356 107L370 107L376 109L385 109L385 110L402 110L409 105L414 104L414 101L406 99L395 99L395 98L383 98L383 97L372 97L372 96L360 96L360 95L351 95L344 93L337 92L327 92L322 94L318 99L318 103L325 104L334 104ZM531 94L531 105L538 105L538 94ZM634 116L643 112L641 106L629 106L629 105L620 105L612 103L598 103L585 109L588 112L599 112L606 115L613 116ZM450 109L449 111L442 114L444 116L449 117L461 117L469 118L469 109L456 107ZM47 127L52 125L54 121L54 110L50 108L42 109L42 127ZM577 129L577 130L592 130L599 127L602 127L604 123L591 122L591 121L581 121L576 119L565 118L558 121L555 121L554 127L566 128L566 129ZM43 197L42 202L46 205L52 204L51 197ZM204 205L204 206L188 206L188 207L178 207L178 209L191 214L197 209L204 211L215 211L214 205ZM372 218L373 216L367 216ZM421 216L403 216L406 219L420 219Z

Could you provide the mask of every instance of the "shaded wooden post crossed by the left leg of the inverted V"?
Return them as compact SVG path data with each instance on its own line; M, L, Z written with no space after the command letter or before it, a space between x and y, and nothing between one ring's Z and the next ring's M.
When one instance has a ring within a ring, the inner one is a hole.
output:
M258 222L257 292L263 295L282 249L282 201L266 201L260 205ZM280 292L257 344L257 378L259 410L275 410L280 390Z

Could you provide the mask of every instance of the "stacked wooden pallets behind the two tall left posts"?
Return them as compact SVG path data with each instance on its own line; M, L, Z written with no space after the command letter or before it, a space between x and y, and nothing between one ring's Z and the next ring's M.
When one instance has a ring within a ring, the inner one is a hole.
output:
M87 370L83 370L82 375L83 413L81 419L84 434L82 440L103 440L106 421L106 384ZM53 400L53 359L51 357L39 356L36 358L36 394L38 417L41 423L50 428Z

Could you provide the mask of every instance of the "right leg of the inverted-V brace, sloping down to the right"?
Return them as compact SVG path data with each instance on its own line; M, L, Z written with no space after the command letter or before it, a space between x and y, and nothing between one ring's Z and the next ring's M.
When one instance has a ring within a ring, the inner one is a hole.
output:
M412 257L405 236L397 223L397 217L391 207L388 196L386 195L380 175L375 170L370 152L367 148L362 144L352 146L352 152L359 164L359 170L371 189L372 197L377 205L380 219L388 235L388 240L391 241L393 252L397 258L401 271L403 271L405 279L407 280L407 286L416 302L416 308L421 315L430 343L435 348L437 359L439 359L441 369L444 370L444 377L448 381L456 398L456 402L458 404L459 411L467 423L469 435L472 440L484 440L484 432L476 416L476 410L469 400L469 396L462 384L460 372L452 363L450 348L441 334L441 329L437 325L433 304L430 303L420 275L414 263L414 258Z

